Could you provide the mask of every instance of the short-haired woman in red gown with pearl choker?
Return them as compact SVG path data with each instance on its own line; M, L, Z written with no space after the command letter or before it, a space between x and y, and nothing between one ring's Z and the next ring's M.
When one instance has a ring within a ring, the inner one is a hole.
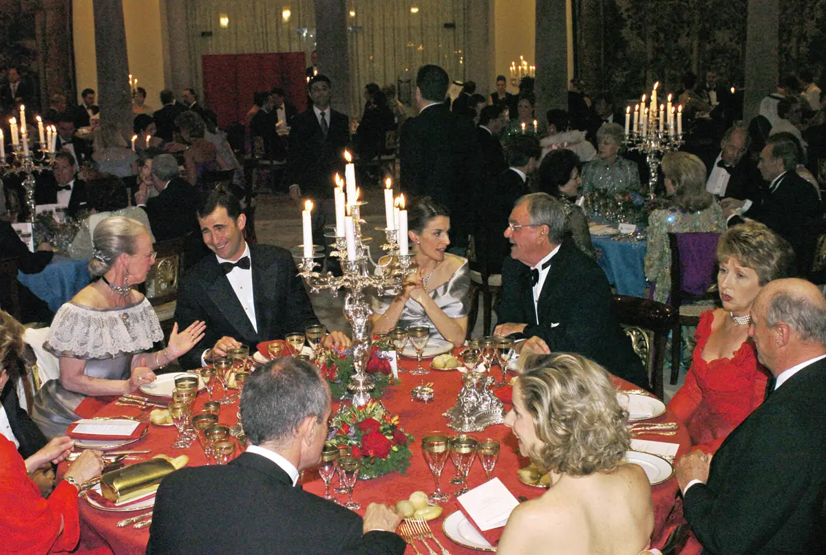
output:
M749 314L762 287L790 277L794 264L790 244L756 221L720 235L716 255L723 307L700 315L686 382L668 402L705 453L714 453L766 398L769 373L748 336Z

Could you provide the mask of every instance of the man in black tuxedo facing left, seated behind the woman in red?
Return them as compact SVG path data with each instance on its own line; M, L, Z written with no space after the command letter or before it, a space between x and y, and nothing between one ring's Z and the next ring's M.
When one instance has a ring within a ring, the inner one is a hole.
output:
M729 226L743 221L743 216L761 221L789 241L795 249L800 275L811 269L817 239L811 233L823 215L814 186L795 171L800 161L800 146L794 135L778 133L766 141L757 168L769 183L759 202L724 198L723 213Z

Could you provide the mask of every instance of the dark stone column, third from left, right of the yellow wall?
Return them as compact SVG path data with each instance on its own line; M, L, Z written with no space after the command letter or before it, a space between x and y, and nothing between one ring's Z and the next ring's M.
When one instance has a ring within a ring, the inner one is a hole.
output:
M567 109L567 1L536 0L536 119Z

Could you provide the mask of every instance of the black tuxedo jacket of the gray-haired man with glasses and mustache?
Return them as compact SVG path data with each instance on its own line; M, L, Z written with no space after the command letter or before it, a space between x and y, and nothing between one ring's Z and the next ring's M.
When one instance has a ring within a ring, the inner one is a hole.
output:
M615 376L648 389L648 377L628 336L611 313L605 273L575 244L563 241L551 259L534 312L530 268L506 258L502 268L499 323L527 323L526 337L538 335L552 352L580 353ZM539 313L539 324L535 314Z

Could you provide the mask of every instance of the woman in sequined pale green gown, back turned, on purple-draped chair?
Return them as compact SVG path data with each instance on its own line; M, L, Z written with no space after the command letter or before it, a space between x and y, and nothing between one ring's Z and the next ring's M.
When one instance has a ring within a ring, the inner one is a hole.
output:
M723 209L705 190L705 164L694 154L669 152L662 157L662 174L671 205L648 216L645 277L654 284L654 301L665 302L671 292L669 233L725 230Z

